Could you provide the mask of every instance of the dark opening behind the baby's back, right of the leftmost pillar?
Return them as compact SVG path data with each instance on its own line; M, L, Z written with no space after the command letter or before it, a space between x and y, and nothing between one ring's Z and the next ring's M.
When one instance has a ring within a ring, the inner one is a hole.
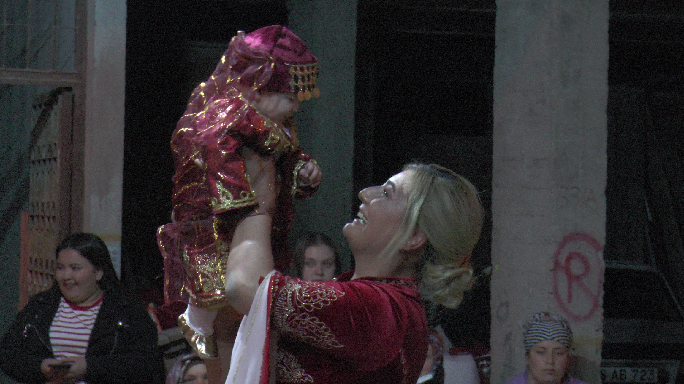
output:
M213 72L238 30L287 25L284 1L130 1L122 279L162 286L157 228L170 221L174 165L169 141L190 93Z

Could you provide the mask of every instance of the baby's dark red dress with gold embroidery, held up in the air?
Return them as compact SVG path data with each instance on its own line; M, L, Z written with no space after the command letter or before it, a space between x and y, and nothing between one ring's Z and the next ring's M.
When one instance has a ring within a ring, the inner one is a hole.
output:
M235 89L217 94L189 117L192 120L179 124L171 140L176 166L174 222L157 231L164 257L164 296L166 303L192 297L200 307L221 307L226 305L224 275L233 232L239 220L258 206L241 149L246 146L276 159L279 193L272 229L276 269L287 268L291 260L287 232L294 218L293 198L304 199L315 191L297 184L298 172L311 156L302 152L293 120L282 127L274 124L249 107Z

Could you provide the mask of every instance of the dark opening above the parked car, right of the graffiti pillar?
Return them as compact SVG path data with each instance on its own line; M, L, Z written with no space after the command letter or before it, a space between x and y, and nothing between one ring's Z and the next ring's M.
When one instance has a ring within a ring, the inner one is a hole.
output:
M606 260L651 264L684 299L684 3L610 1Z

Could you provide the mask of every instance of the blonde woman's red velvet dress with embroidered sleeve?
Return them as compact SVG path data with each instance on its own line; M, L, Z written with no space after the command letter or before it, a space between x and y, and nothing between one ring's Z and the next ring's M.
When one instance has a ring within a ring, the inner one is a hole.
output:
M276 383L415 384L428 323L415 279L272 278Z

